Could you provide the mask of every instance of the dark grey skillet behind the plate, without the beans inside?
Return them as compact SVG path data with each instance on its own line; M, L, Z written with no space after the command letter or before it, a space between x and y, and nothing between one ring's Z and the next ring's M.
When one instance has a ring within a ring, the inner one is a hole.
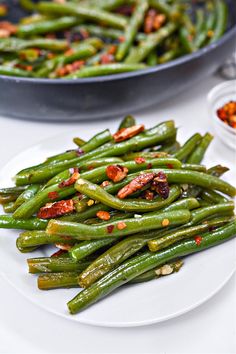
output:
M25 15L16 1L8 4L11 20ZM167 64L70 81L0 76L0 114L51 121L110 118L191 89L214 73L236 47L236 1L228 0L228 6L228 30L219 41Z

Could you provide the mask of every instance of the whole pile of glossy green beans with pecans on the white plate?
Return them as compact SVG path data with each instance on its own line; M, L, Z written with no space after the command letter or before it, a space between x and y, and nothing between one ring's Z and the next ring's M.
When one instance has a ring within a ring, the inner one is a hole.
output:
M75 137L72 150L24 168L15 186L0 189L0 228L24 230L17 249L59 249L27 259L38 288L84 288L69 301L71 314L123 284L178 272L185 256L236 235L236 189L221 178L228 168L202 164L213 136L195 133L181 145L176 135L173 121L146 129L127 116L114 134ZM165 187L156 189L160 176Z

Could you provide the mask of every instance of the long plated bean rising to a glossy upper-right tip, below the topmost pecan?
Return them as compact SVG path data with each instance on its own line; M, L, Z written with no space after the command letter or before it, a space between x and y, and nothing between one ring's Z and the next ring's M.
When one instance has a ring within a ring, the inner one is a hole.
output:
M70 167L79 167L82 161L88 161L92 158L101 158L109 156L121 156L128 151L140 151L146 147L153 146L165 141L175 134L175 127L173 121L167 121L157 125L156 127L138 134L137 136L120 143L107 143L97 149L90 151L80 157L71 159L70 161L62 161L53 166L31 167L30 171L20 171L16 177L16 185L25 185L29 183L45 182L49 178L55 176L57 173L64 171Z

